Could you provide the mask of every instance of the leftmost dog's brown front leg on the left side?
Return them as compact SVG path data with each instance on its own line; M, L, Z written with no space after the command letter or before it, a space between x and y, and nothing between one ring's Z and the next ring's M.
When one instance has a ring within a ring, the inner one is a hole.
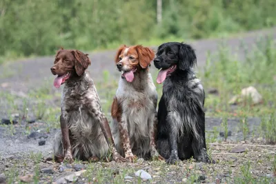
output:
M72 148L71 148L70 139L69 139L69 128L63 116L66 116L66 114L61 114L60 116L62 142L63 142L63 149L65 153L63 161L68 161L69 163L72 163L74 160L72 158Z

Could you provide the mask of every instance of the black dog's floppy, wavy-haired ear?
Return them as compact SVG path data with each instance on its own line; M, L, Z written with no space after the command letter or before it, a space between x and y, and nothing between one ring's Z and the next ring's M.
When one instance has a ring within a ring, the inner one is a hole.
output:
M188 44L181 43L179 47L179 68L189 70L197 63L195 50Z

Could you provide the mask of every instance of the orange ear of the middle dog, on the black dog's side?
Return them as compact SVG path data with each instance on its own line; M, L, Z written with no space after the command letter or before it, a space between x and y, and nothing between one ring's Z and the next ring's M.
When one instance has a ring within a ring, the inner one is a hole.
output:
M155 52L153 52L150 48L144 48L142 45L137 45L136 49L141 68L147 68L150 65L150 61L155 58Z

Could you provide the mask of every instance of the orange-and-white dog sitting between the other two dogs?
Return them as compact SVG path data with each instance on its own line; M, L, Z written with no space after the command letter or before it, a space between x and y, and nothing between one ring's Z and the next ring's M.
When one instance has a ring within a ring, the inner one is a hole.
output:
M157 91L149 73L155 53L141 45L123 45L115 61L121 72L119 87L112 103L112 135L120 154L128 161L159 159L155 144Z

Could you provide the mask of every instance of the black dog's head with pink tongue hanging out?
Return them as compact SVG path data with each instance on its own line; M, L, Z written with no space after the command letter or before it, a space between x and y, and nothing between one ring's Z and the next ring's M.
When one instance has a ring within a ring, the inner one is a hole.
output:
M157 76L157 83L162 83L167 76L177 71L188 72L197 63L197 57L190 45L168 42L158 47L154 63L157 69L161 69Z

